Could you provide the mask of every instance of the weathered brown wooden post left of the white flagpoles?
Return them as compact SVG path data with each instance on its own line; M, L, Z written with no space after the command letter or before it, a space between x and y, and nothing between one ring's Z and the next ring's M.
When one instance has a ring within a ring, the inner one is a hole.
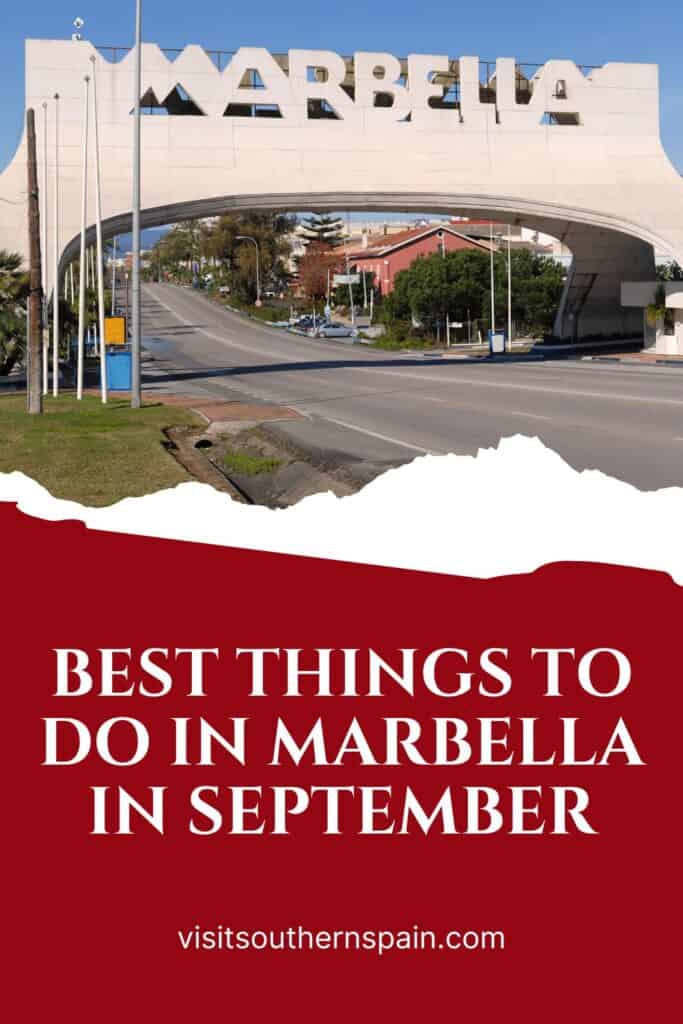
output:
M29 350L27 397L30 416L43 412L41 348L43 334L43 269L40 254L40 205L36 158L36 115L27 111L29 144Z

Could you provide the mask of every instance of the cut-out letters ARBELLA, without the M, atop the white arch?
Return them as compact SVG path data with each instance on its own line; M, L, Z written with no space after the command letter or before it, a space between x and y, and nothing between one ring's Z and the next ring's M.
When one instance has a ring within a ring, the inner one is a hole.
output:
M559 116L550 123L579 124L582 104L595 101L599 89L570 60L550 60L529 79L509 57L483 65L476 56L358 52L345 58L329 50L272 54L260 47L237 50L220 82L214 113L223 116L250 117L257 105L273 118L305 121L315 116L311 104L323 104L318 116L365 128L396 122L488 128L504 120L518 128L549 116Z

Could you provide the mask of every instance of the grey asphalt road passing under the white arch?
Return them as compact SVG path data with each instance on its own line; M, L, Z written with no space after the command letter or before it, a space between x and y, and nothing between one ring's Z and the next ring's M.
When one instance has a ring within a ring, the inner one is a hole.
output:
M281 335L170 285L144 287L142 313L146 393L294 407L305 419L279 429L359 477L521 433L578 469L683 484L683 369L407 356Z

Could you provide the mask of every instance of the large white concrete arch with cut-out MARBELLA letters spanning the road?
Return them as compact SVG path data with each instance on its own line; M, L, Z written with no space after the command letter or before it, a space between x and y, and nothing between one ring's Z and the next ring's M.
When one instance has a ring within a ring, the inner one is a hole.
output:
M93 69L112 237L131 220L133 55L85 41L27 43L27 105L40 115L47 103L48 197L58 168L58 239L48 207L47 242L60 273L79 245L84 77ZM622 283L653 279L654 248L683 262L683 180L661 145L654 66L144 44L142 69L143 226L246 209L523 224L572 252L555 325L565 339L641 334L642 310L622 306ZM41 130L41 168L43 144ZM26 196L25 146L0 175L4 198ZM4 207L0 248L24 251L26 234L25 208Z

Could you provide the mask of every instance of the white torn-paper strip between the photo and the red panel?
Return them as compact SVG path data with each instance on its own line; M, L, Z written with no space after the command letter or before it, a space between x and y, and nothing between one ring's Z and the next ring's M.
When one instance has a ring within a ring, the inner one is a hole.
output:
M683 584L683 487L647 493L579 473L522 436L476 457L425 456L349 498L315 495L281 511L202 483L88 508L22 473L0 474L0 501L93 529L468 577L594 561L659 569Z

